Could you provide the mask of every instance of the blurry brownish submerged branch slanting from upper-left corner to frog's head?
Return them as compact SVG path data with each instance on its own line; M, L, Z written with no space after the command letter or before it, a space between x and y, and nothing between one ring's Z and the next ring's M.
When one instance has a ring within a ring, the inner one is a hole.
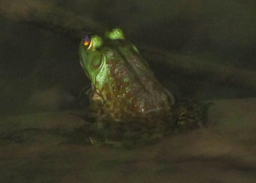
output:
M34 24L56 33L81 38L84 34L100 32L103 25L89 17L76 15L50 2L35 0L2 0L0 15L14 21Z

